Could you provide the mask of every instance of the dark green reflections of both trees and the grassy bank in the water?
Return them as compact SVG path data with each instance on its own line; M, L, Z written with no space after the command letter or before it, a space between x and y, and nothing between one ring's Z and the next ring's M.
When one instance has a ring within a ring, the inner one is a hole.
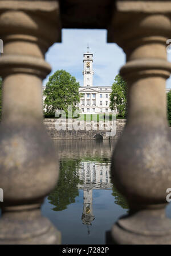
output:
M109 163L107 157L100 156L87 156L83 159L62 159L60 160L60 174L58 184L54 191L48 196L49 202L55 207L54 211L62 211L67 208L71 203L75 203L76 196L79 196L78 184L83 183L79 179L78 170L82 161L91 161L99 163ZM112 195L115 196L115 203L119 204L122 208L128 209L128 203L123 195L121 195L113 186Z

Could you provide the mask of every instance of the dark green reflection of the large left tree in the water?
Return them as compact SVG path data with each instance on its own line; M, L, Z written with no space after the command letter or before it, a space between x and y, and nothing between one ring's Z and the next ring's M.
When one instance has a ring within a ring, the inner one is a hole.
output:
M55 206L52 210L62 211L67 208L68 204L75 203L75 198L79 195L77 188L78 183L80 183L79 163L80 160L75 159L60 160L58 184L48 196L49 202Z

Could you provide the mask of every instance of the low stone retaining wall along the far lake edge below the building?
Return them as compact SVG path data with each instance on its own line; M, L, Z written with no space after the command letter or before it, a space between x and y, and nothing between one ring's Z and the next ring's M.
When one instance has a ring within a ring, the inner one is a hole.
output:
M101 137L101 139L102 139L102 137L103 137L103 139L116 140L120 137L126 120L125 119L117 119L116 120L116 122L115 122L116 135L115 136L109 136L110 131L108 130L107 126L112 124L111 121L105 123L105 125L102 124L102 122L95 123L94 121L91 121L89 123L84 123L84 121L80 121L80 123L79 123L80 128L78 130L75 130L75 129L72 129L72 125L76 123L76 120L73 120L73 123L67 122L64 124L64 125L66 125L65 126L66 131L64 131L62 129L57 130L55 128L55 122L56 122L56 119L44 119L44 125L47 129L48 134L50 135L50 137L52 139L91 140L91 139L98 139L98 137ZM102 127L102 125L103 125L103 127ZM111 133L110 133L110 135L111 135Z

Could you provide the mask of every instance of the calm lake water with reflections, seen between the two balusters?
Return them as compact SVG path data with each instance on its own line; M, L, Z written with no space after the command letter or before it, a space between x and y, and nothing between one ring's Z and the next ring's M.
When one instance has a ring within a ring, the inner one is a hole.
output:
M105 232L128 211L110 179L115 141L56 140L60 176L42 213L62 233L63 244L104 244Z

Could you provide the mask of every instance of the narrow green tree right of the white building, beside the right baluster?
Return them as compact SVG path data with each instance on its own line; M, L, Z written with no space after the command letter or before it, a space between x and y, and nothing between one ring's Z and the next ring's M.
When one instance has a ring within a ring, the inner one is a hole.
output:
M127 111L127 87L126 82L117 74L112 85L112 93L110 94L111 110L119 111L119 115L125 117Z

